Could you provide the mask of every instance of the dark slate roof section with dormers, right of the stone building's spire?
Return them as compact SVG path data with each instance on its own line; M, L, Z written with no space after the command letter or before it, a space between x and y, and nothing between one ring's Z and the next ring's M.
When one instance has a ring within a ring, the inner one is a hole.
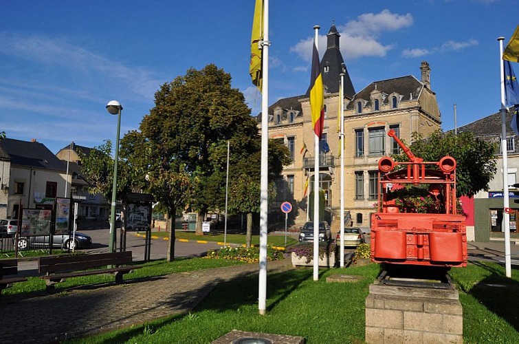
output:
M378 91L383 92L386 95L396 92L397 94L403 96L400 101L406 101L410 100L411 96L412 99L417 99L421 90L423 89L423 84L412 75L374 81L373 83L364 87L364 89L362 89L359 93L355 94L351 102L346 105L346 109L353 109L357 103L356 100L367 100L368 103L366 106L370 106L371 92L375 89L375 87L377 87ZM388 104L388 102L390 102L390 99L388 96L386 96L383 104Z

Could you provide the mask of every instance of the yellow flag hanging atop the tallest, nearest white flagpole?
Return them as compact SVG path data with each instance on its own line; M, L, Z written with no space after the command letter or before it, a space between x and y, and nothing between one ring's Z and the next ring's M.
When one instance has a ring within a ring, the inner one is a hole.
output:
M252 21L252 36L250 40L250 67L249 74L252 83L258 87L261 92L261 81L263 74L261 71L261 58L263 51L259 48L258 43L263 40L263 0L256 0L254 6L254 19Z

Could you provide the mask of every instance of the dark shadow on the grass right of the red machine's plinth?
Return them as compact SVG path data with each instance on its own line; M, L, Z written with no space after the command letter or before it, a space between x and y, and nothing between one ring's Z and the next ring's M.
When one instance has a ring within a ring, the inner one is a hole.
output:
M478 281L470 290L465 291L472 295L476 300L483 304L488 310L507 321L516 331L519 330L519 318L517 310L519 308L519 283L514 279L509 279L494 266L483 264L480 261L472 262L476 266L490 272L490 275ZM519 270L512 266L512 270ZM517 272L515 272L517 273Z

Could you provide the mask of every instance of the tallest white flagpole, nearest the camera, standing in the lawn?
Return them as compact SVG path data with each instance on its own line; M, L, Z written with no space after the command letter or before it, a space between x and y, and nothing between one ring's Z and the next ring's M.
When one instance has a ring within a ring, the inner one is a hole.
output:
M268 151L269 151L269 0L263 1L263 54L261 72L261 195L260 195L260 257L259 257L259 314L267 312L267 215L268 205Z

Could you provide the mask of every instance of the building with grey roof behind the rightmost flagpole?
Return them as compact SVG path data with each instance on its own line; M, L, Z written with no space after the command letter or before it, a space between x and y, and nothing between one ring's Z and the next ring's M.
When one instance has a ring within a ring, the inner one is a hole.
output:
M519 241L517 221L519 216L519 189L514 186L519 169L519 145L510 127L511 111L505 117L507 149L507 185L509 187L510 239ZM489 182L489 191L480 191L472 200L463 198L467 213L467 239L475 241L504 241L503 228L503 147L501 147L502 116L500 112L459 127L458 132L471 131L476 138L496 143L497 171Z

